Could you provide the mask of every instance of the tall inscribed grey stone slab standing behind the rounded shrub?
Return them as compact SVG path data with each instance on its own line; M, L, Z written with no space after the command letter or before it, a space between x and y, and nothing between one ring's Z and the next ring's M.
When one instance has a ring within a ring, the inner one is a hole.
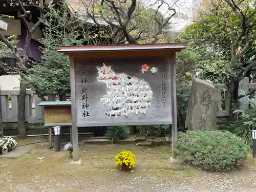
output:
M193 78L185 126L189 130L216 130L220 91L212 84Z

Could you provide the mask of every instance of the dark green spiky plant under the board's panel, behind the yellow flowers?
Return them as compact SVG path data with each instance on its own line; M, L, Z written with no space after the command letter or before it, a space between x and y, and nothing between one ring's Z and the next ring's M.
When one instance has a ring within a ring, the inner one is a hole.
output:
M117 140L127 138L130 132L129 126L108 126L106 131L106 136L116 143Z

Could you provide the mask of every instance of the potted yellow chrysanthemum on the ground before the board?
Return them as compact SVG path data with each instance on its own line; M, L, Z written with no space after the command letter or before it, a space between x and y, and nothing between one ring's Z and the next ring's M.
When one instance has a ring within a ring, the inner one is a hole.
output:
M121 170L129 170L135 167L136 157L130 151L122 151L115 157L115 165L120 166Z

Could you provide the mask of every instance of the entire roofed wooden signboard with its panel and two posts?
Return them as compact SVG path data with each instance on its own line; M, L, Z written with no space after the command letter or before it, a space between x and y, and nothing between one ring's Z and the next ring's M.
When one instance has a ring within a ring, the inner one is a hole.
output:
M172 124L175 147L175 55L185 48L186 44L58 48L70 56L74 161L79 160L79 126Z

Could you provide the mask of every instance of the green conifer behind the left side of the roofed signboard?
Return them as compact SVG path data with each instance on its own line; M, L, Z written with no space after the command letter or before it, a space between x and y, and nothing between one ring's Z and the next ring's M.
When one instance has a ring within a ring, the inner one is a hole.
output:
M60 9L51 9L49 18L43 23L44 38L41 39L41 62L21 80L39 96L58 94L60 98L70 93L69 57L58 53L59 46L82 45L80 24L76 17L70 17L67 5Z

